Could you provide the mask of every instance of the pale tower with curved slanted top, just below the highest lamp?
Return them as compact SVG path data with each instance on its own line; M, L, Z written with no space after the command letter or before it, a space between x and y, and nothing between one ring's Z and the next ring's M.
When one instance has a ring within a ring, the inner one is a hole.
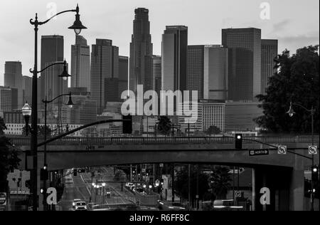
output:
M80 35L71 46L71 87L85 87L90 92L90 46Z

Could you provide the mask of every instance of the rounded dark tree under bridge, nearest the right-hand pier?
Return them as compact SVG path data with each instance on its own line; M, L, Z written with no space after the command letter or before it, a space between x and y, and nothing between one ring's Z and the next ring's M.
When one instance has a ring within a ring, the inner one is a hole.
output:
M215 195L215 199L225 199L231 186L229 169L227 167L215 167L210 181L210 188Z

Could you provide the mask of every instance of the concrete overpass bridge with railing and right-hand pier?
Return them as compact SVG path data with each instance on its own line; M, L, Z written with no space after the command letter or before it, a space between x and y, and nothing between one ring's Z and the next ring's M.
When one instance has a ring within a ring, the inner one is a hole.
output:
M30 141L13 138L21 149L21 167L25 168ZM319 136L314 138L319 146ZM41 140L38 140L41 142ZM254 169L252 192L256 209L262 187L272 194L270 209L304 210L304 170L311 167L308 146L310 136L245 137L243 150L235 150L234 137L105 137L63 138L47 145L50 170L144 163L222 164ZM275 147L287 145L292 153L278 155ZM269 149L270 154L252 157L249 150ZM294 153L294 154L293 154ZM315 162L319 162L316 155ZM43 164L43 147L38 148L38 164Z

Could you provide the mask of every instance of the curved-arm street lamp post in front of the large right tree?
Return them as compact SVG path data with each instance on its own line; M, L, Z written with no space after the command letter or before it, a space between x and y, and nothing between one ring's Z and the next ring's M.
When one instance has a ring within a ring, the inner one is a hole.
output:
M316 112L316 110L314 109L313 105L311 107L311 110L308 110L303 105L291 102L289 111L287 112L289 117L293 117L294 114L296 114L296 112L294 112L294 109L293 109L294 105L297 105L300 108L303 108L304 110L306 110L306 112L309 112L311 114L311 142L312 142L312 146L313 146L314 145L314 113ZM311 168L314 168L314 155L312 155L311 160L312 160ZM313 176L311 176L311 211L314 211L314 179L313 179Z

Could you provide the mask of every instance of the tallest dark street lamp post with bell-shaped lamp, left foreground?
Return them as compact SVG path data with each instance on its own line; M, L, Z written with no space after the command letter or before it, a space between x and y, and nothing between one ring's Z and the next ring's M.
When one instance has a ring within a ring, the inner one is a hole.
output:
M70 26L70 29L73 29L76 34L80 34L82 29L85 29L85 26L82 26L82 23L80 21L80 15L79 15L79 6L77 6L76 9L68 10L68 11L62 11L58 14L55 14L50 19L47 19L46 21L38 21L38 14L36 14L36 18L33 21L33 19L30 20L31 25L34 26L35 31L35 38L34 38L34 67L33 70L30 70L31 73L33 73L32 78L32 116L31 116L31 154L33 157L33 170L32 170L32 194L33 194L33 211L37 211L38 209L38 152L37 152L37 145L38 145L38 26L41 26L45 23L48 23L51 19L53 19L55 16L58 16L60 14L64 14L67 12L75 12L75 22L73 23L73 26Z

